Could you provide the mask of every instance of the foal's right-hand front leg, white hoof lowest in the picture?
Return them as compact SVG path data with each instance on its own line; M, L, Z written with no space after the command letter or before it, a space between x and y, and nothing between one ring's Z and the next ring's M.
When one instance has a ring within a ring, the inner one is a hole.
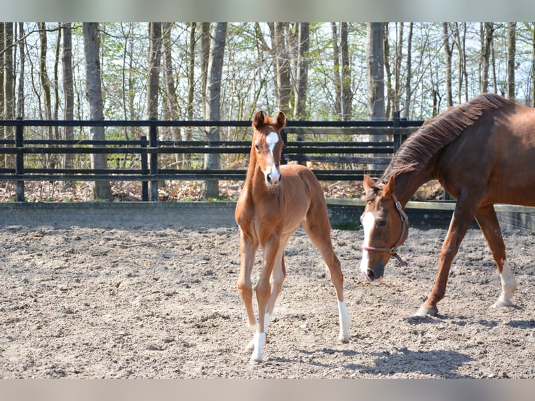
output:
M253 353L251 362L262 362L262 351L265 345L266 313L271 298L271 275L279 253L280 236L271 235L263 245L264 265L258 283L256 283L256 301L258 302L258 326L253 337Z

